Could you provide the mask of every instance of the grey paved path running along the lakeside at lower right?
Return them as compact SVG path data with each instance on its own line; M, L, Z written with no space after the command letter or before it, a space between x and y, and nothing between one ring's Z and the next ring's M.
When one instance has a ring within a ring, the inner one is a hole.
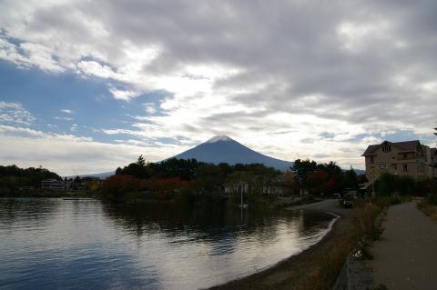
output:
M381 241L371 249L375 285L389 289L437 289L437 224L416 203L389 208Z

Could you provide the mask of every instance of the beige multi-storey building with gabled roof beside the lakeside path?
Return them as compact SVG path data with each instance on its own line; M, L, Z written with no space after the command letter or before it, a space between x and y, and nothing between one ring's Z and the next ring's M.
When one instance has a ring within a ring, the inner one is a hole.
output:
M416 181L437 176L437 150L422 145L419 140L405 142L384 141L370 145L363 153L366 177L372 184L383 172L409 175Z

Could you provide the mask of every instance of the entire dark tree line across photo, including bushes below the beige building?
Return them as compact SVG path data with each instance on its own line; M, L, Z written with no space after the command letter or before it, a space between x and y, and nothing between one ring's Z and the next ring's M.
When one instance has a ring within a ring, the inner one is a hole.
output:
M51 179L63 181L64 190L48 190L42 183ZM168 159L147 163L140 155L137 161L118 167L116 174L99 180L93 177L66 177L42 167L26 169L15 165L0 166L1 196L92 195L107 200L190 200L195 196L235 196L245 199L274 199L278 196L350 197L377 195L429 195L435 179L415 182L403 175L382 174L372 188L363 188L368 180L351 168L343 170L335 162L318 164L297 159L290 170L281 172L261 164L219 165L196 159Z

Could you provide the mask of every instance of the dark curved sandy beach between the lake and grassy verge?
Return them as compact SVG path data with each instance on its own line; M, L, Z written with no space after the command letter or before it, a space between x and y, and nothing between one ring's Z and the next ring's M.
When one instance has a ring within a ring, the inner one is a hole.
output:
M318 261L331 246L351 229L352 219L360 215L357 209L343 209L336 200L325 200L310 205L296 205L286 210L313 209L339 215L330 232L319 243L310 246L298 255L292 255L268 269L248 275L210 289L297 289L301 279L313 271L313 261Z

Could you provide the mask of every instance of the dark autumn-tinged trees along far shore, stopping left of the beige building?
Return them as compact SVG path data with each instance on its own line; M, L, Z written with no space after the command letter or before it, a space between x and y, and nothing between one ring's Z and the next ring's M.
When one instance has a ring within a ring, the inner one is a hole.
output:
M20 169L0 166L0 196L33 197L95 197L114 203L178 203L197 204L202 199L229 199L256 206L276 207L310 203L313 199L332 196L345 188L358 190L358 177L351 169L343 171L334 162L317 164L296 160L285 173L261 164L219 165L195 159L168 159L147 163L142 155L137 162L123 168L106 180L62 179L43 168ZM39 175L29 180L28 171ZM292 173L293 172L293 173ZM42 175L41 173L45 173ZM65 185L64 192L43 189L47 174L56 186ZM308 194L311 193L311 194Z

